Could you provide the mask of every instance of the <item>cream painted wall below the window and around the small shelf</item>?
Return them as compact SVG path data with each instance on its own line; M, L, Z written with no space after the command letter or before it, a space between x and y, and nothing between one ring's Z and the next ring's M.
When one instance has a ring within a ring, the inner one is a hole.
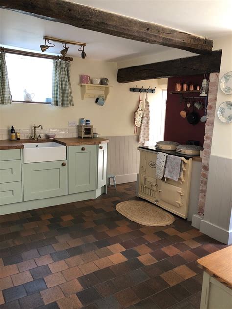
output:
M108 77L109 96L103 107L95 104L94 99L81 99L81 88L78 85L79 75L88 74L91 77ZM91 120L94 128L102 136L125 136L134 134L133 113L138 105L139 93L129 92L130 87L154 88L156 94L149 94L150 102L161 98L161 88L166 81L140 81L138 83L120 84L116 81L117 64L112 62L82 60L74 58L71 66L71 84L74 107L51 107L46 104L13 103L0 105L0 129L31 128L34 123L42 124L44 128L68 128L68 121L86 118ZM144 94L142 95L144 98Z

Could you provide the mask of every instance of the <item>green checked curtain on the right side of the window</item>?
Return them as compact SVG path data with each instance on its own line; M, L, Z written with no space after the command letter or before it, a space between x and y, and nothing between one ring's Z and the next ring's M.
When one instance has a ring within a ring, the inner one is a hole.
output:
M71 62L61 59L53 61L52 106L73 106L70 80Z

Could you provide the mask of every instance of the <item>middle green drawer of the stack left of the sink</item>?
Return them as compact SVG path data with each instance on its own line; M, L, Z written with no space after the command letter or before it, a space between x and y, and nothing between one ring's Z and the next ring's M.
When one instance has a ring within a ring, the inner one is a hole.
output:
M0 183L21 181L21 161L0 161Z

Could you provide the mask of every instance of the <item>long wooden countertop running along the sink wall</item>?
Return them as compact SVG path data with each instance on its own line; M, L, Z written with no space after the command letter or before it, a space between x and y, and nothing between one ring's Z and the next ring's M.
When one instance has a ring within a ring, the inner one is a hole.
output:
M109 143L105 138L54 138L54 139L39 139L37 141L33 139L21 139L21 140L0 140L0 150L3 149L21 149L24 148L23 143L46 143L57 142L65 146L78 146L78 145L99 145L103 143Z

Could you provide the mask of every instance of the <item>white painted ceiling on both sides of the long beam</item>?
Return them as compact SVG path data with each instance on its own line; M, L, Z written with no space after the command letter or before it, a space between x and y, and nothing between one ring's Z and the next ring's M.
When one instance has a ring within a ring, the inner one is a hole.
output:
M232 33L231 0L72 1L210 39ZM40 51L44 35L85 42L88 58L98 60L119 61L170 49L0 9L0 45ZM61 44L55 45L48 51L59 53L63 49ZM80 55L77 49L77 46L70 45L68 55Z

